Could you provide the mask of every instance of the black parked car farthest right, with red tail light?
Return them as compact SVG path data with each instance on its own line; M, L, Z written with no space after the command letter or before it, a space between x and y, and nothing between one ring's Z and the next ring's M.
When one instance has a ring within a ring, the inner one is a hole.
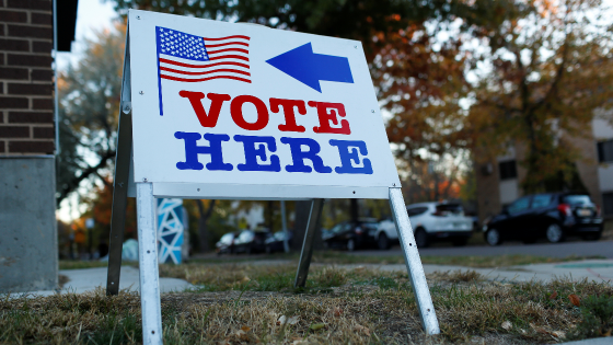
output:
M520 197L483 226L485 241L498 245L507 240L524 243L545 238L562 242L569 234L599 240L603 222L600 208L586 193L545 193Z

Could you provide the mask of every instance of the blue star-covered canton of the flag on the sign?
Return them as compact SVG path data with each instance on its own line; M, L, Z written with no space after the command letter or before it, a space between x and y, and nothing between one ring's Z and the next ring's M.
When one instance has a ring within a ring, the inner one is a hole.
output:
M195 61L208 61L203 37L157 26L158 53Z

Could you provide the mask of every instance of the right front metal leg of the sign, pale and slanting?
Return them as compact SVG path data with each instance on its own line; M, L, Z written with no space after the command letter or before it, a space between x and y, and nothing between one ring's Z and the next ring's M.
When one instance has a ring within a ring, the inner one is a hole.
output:
M421 266L421 260L417 252L417 245L415 244L413 229L410 228L401 188L390 188L390 206L392 207L392 215L394 216L396 229L398 230L398 239L404 252L413 291L417 299L417 309L421 318L421 326L427 334L439 334L439 321L437 320L435 304L432 304L432 298L430 297L426 274Z

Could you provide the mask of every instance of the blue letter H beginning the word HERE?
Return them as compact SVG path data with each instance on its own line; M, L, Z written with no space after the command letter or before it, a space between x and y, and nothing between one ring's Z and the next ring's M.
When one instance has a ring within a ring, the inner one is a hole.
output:
M185 140L185 162L176 163L178 170L203 170L205 165L198 161L198 154L210 154L211 161L207 163L208 170L232 170L232 164L223 163L221 152L221 141L230 141L228 135L205 134L204 138L209 141L209 146L196 145L196 141L201 138L199 133L177 131L174 137Z

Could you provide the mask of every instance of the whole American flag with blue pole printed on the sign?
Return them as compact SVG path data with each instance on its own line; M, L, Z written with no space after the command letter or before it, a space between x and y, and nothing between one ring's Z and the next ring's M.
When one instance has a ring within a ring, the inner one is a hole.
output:
M160 115L163 115L162 79L181 82L232 79L251 83L248 36L203 37L155 26L155 37Z

